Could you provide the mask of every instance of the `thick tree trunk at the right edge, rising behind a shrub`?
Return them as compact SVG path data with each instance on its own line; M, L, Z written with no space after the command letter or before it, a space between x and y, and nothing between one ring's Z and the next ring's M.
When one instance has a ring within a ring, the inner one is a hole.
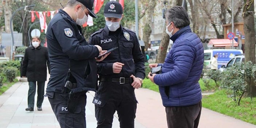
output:
M244 34L245 34L245 61L255 63L255 23L254 23L254 0L244 0ZM255 84L248 83L249 92L256 96ZM247 94L248 96L248 94Z

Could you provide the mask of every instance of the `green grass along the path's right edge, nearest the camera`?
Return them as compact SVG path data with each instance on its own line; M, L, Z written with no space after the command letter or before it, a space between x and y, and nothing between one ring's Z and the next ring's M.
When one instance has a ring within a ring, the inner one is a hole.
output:
M255 98L251 101L251 98L243 97L238 106L237 102L228 98L225 90L218 90L212 95L203 96L202 105L204 108L256 125Z

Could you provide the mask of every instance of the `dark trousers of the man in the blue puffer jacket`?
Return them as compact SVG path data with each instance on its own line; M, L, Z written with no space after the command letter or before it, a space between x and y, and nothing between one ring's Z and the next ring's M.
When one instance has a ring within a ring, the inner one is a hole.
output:
M201 110L201 101L190 106L166 107L168 128L197 128Z

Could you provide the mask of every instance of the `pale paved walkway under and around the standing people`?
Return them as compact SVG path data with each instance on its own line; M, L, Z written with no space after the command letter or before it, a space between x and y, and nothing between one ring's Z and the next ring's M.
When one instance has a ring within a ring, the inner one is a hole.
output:
M17 82L0 96L0 128L60 128L51 109L48 98L44 98L43 110L27 112L28 82ZM137 105L135 128L167 128L165 109L160 94L148 89L136 89ZM37 94L36 94L37 96ZM87 93L87 128L96 128L94 92ZM119 128L117 114L113 128ZM203 108L199 128L256 128L246 123Z

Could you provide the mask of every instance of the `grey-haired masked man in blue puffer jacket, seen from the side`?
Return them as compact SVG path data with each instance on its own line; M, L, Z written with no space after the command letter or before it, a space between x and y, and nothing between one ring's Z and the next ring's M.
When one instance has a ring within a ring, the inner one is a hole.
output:
M148 77L159 86L168 128L197 128L202 109L198 81L203 69L203 45L191 32L183 7L168 9L166 23L166 32L174 43L163 64L150 64L150 68L162 66L162 73L149 73Z

